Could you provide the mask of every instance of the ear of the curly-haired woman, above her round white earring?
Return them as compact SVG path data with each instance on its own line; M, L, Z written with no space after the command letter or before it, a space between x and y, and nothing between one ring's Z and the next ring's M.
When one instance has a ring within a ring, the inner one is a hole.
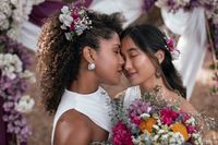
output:
M96 50L88 46L85 46L83 48L83 57L88 63L93 63L96 57Z

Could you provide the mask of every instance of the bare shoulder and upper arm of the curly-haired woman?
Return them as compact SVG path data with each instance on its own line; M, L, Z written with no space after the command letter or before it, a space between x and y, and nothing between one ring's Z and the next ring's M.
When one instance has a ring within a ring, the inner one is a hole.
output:
M90 129L84 114L68 110L57 122L53 145L86 145L90 141Z

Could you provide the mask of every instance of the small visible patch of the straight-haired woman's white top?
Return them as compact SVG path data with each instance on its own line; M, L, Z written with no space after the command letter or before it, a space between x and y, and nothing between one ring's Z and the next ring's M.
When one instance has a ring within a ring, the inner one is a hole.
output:
M128 109L130 107L130 104L136 98L141 98L140 86L129 87L124 95L123 107Z

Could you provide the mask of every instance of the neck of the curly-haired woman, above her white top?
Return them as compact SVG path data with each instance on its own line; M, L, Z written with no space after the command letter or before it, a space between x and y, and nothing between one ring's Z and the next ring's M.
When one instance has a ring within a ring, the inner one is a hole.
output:
M69 87L70 90L80 94L90 94L98 89L99 83L93 71L80 70L77 78Z

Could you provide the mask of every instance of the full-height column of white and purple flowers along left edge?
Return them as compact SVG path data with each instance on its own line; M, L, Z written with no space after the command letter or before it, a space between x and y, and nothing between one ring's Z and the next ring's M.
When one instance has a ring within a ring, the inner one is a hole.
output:
M22 24L28 20L34 4L44 0L1 0L0 7L0 99L1 120L11 140L5 144L26 143L32 134L24 116L34 107L34 99L26 94L35 75L28 70L31 58L27 49L17 43ZM3 132L0 132L1 135ZM4 143L2 143L4 144Z

